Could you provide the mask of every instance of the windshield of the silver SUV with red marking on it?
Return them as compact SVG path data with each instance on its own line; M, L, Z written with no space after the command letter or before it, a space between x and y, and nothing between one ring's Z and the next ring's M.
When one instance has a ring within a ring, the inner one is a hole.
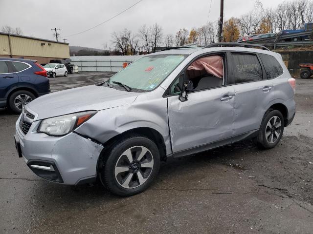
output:
M128 65L110 78L109 83L115 88L121 82L134 92L155 89L187 55L151 55ZM105 84L104 84L105 85Z

